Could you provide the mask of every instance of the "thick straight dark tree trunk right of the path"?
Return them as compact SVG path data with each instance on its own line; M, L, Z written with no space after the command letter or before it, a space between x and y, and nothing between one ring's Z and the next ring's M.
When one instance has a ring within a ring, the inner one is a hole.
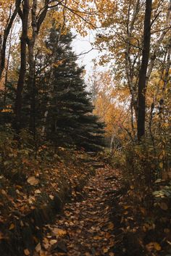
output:
M145 134L145 115L146 115L146 72L149 63L149 51L151 40L151 10L152 0L146 0L146 11L144 17L143 30L143 55L141 69L138 80L138 141L141 141Z

